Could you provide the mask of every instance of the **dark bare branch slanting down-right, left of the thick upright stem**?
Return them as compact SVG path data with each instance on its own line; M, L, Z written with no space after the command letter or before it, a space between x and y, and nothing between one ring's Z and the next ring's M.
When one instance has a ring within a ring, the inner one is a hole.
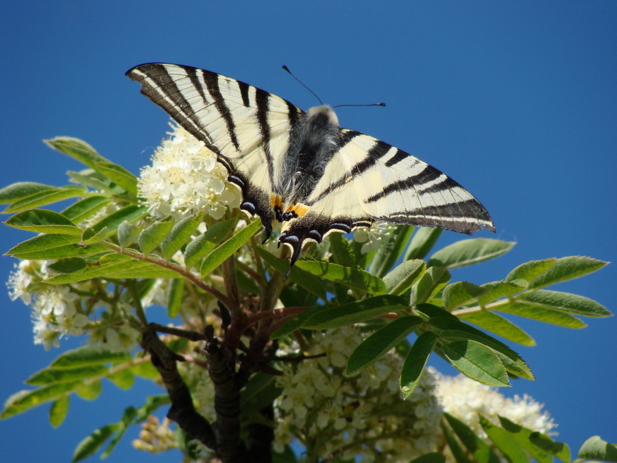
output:
M176 421L186 434L193 439L199 440L206 447L216 450L217 439L215 432L206 418L201 416L193 407L191 392L186 386L176 361L182 357L171 351L156 334L154 329L147 329L141 340L141 346L150 354L152 364L158 370L160 377L165 385L171 407L167 412L167 418Z

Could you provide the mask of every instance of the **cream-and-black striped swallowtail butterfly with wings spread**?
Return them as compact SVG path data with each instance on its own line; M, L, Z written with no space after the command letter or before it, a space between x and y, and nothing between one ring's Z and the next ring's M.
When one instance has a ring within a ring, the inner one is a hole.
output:
M305 112L239 80L178 64L141 64L126 75L215 152L242 192L240 208L261 217L266 239L274 219L283 222L278 244L291 248L291 265L306 243L378 220L495 231L461 185L394 146L339 127L330 106Z

